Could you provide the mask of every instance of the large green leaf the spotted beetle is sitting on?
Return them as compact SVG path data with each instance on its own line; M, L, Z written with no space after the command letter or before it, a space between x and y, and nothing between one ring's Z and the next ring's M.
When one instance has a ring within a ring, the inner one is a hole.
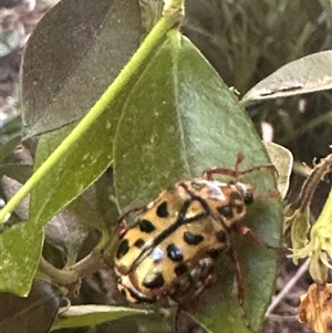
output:
M269 163L232 92L199 51L173 31L127 95L114 147L120 207L126 211L147 204L164 188L199 177L206 168L234 168L239 153L245 155L241 169ZM248 208L243 223L277 246L282 208L278 199L268 198L276 188L273 173L259 170L243 179L267 197ZM188 309L209 332L257 330L270 302L278 253L242 238L236 249L246 272L243 305L237 299L234 269L221 256L214 292L204 292L197 309Z

